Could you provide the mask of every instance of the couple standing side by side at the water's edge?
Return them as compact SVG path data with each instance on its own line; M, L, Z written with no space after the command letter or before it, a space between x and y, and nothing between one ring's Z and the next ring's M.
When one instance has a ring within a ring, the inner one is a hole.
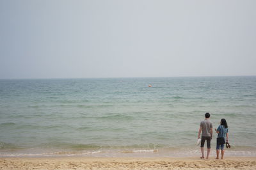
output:
M205 120L201 121L200 123L200 128L199 128L199 132L198 132L198 139L200 139L200 134L202 132L202 139L201 139L201 152L202 152L202 157L200 158L204 158L204 143L206 141L207 143L207 157L209 158L209 154L211 151L211 139L212 139L212 123L209 120L210 118L210 114L209 112L205 113ZM218 134L218 138L217 138L217 143L216 143L216 159L219 158L219 153L220 153L220 148L221 148L221 159L223 159L224 157L224 144L225 141L226 143L228 143L228 125L227 125L227 121L225 119L221 119L220 121L220 126L216 129L215 128L216 133ZM227 138L226 138L227 137ZM218 139L224 139L224 142L220 142L220 140ZM227 139L227 140L225 140Z

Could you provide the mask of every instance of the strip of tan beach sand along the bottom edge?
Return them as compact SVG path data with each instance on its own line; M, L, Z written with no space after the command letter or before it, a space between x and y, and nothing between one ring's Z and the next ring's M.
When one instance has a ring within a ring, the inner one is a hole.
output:
M256 169L256 157L188 158L47 157L0 158L0 169Z

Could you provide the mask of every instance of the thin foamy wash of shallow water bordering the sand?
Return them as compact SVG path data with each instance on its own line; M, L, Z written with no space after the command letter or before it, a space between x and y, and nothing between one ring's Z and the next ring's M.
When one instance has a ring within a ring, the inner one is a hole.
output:
M157 153L157 154L156 154ZM44 151L41 153L0 153L0 157L196 157L200 151L195 148L179 150L92 150L92 151ZM228 157L255 157L255 150L228 150ZM211 153L211 156L213 154Z

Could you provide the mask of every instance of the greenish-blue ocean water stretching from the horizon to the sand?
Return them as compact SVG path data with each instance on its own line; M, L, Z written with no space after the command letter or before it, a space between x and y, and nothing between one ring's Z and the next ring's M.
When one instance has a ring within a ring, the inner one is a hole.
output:
M0 80L0 157L199 156L205 112L256 156L256 77Z

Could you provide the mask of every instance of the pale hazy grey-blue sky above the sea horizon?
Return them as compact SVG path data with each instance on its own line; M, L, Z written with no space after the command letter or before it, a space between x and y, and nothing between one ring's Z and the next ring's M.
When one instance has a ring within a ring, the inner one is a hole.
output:
M0 79L256 75L255 7L0 0Z

